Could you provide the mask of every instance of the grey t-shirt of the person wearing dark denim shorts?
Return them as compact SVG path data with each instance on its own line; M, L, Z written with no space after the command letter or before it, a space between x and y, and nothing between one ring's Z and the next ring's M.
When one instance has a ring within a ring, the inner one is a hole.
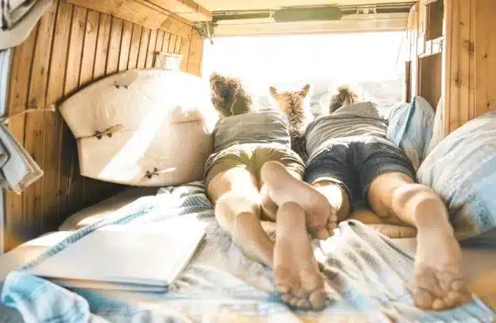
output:
M373 102L359 102L317 118L307 127L307 153L311 157L325 148L329 140L373 135L386 137L387 120Z

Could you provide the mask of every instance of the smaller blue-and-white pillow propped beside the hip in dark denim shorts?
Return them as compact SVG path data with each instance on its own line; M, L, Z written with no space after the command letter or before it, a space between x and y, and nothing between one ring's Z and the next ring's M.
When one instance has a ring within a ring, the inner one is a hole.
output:
M389 113L387 139L402 148L417 170L426 156L434 124L431 104L416 96L410 104L400 104Z

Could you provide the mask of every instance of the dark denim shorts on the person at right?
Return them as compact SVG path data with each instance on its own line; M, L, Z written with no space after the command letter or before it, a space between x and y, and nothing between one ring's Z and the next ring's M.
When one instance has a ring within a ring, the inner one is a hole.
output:
M402 172L415 181L415 169L403 151L382 137L360 135L333 139L314 153L304 180L329 180L347 190L351 203L366 202L373 180L386 172Z

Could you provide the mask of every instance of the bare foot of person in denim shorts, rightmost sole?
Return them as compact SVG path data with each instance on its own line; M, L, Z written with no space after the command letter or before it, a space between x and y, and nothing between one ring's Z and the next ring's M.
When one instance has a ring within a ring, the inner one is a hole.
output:
M419 230L413 299L420 309L442 310L472 300L462 274L462 257L453 234Z

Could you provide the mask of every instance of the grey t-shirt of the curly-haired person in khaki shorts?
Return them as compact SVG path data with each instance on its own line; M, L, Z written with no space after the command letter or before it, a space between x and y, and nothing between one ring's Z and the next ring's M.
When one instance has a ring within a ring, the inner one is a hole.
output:
M282 144L291 147L286 115L256 111L220 119L212 133L214 153L235 144Z

